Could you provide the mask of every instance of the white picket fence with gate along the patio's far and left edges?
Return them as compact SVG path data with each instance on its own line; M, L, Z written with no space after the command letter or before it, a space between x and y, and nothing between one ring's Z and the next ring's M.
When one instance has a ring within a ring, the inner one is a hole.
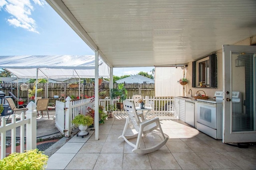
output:
M153 97L149 98L146 96L143 98L145 104L151 104L156 115L172 115L174 113L174 99L170 97ZM133 101L133 99L128 98L127 100ZM114 99L114 104L118 102ZM100 105L104 106L104 109L110 105L110 99L100 99ZM76 128L72 124L72 120L76 115L85 115L88 112L88 107L94 108L94 102L92 98L76 100L71 102L71 98L66 98L66 103L56 101L56 117L55 125L60 130L60 132L69 137L72 131ZM105 110L104 110L105 111ZM125 115L124 110L114 111L114 115Z

